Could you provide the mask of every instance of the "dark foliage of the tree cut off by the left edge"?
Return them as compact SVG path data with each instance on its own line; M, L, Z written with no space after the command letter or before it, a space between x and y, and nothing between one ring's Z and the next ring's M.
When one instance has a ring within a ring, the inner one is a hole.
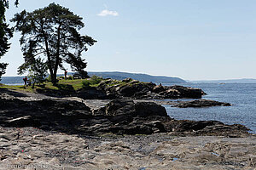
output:
M15 5L18 5L18 0L15 1ZM9 49L9 38L13 37L12 31L9 25L6 24L5 11L9 8L8 0L0 0L0 59ZM7 63L0 63L0 80L2 75L5 73Z

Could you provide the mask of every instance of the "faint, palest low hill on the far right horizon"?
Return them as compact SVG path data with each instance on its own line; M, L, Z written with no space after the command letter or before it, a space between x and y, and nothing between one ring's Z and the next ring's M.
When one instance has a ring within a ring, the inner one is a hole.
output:
M241 78L230 80L207 80L207 81L188 81L188 82L215 82L215 83L256 83L256 79L253 78Z

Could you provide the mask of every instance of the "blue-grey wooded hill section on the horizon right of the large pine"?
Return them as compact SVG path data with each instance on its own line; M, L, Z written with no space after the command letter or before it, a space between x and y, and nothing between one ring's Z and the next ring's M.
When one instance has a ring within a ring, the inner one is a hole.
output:
M138 80L140 82L158 82L158 83L183 83L186 82L181 78L177 77L158 77L158 76L150 76L147 74L137 74L137 73L128 73L128 72L90 72L88 71L90 76L96 75L98 77L103 78L113 78L117 80L123 80L125 78L132 78Z

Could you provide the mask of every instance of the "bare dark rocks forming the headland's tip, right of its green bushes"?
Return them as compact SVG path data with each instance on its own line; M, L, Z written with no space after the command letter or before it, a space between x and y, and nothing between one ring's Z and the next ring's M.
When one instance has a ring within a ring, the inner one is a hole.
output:
M100 84L102 91L107 95L112 94L112 99L179 99L179 98L193 98L201 99L205 94L200 88L186 88L183 86L160 86L152 82L138 82L124 80L125 85L115 85L112 87L106 86L105 82Z

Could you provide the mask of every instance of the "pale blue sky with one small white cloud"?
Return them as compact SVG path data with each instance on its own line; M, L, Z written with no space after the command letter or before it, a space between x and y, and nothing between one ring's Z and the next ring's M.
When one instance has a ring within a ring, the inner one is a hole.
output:
M10 2L12 3L12 1ZM255 0L20 0L7 19L58 3L83 17L96 39L83 54L87 71L125 71L185 80L256 78ZM0 59L16 76L20 33ZM71 71L69 69L69 71Z

